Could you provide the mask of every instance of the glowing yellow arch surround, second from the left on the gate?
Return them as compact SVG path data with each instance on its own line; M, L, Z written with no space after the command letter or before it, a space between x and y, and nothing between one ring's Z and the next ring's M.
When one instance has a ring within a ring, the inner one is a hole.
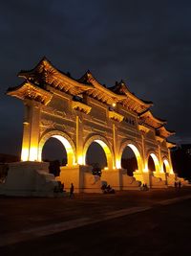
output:
M83 164L86 164L86 153L90 147L90 145L96 142L98 143L101 148L103 149L103 151L105 152L106 155L106 159L107 159L107 167L109 170L113 169L114 167L114 153L109 145L109 142L107 141L106 138L100 136L100 135L92 135L91 137L89 137L85 144L84 144L84 148L83 148Z

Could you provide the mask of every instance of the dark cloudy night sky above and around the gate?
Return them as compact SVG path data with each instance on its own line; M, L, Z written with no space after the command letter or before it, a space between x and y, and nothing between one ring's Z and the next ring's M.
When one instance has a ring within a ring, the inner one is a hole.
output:
M191 1L1 1L0 152L22 142L23 104L5 92L43 56L74 78L124 80L176 130L171 141L191 143Z

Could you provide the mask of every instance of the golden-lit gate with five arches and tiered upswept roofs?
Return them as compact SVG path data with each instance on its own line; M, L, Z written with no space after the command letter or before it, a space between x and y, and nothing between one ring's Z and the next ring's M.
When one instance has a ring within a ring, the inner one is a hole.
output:
M74 181L76 173L78 176L80 168L86 166L89 146L96 142L107 158L102 178L123 189L127 177L121 169L121 156L128 146L138 160L135 180L153 187L174 183L169 150L174 145L166 141L173 132L153 116L152 103L138 99L123 81L107 88L89 71L74 80L53 67L47 58L31 71L21 71L19 77L25 81L10 88L8 95L25 105L22 161L41 162L44 144L54 137L67 151L68 164L63 172L78 170L70 178ZM149 156L154 160L155 172L148 169ZM78 186L83 187L82 183Z

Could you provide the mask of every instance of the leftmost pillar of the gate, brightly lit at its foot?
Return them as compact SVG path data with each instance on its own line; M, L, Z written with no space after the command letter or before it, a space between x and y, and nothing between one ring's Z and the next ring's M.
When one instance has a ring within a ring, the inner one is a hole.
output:
M25 102L22 161L38 160L40 104L31 100Z

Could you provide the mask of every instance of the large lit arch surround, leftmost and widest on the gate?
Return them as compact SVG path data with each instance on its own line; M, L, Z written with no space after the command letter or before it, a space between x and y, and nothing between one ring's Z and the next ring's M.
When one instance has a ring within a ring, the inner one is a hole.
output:
M67 166L73 166L75 164L75 147L74 142L72 139L67 135L65 132L58 131L58 130L52 130L47 133L45 133L42 138L40 139L39 145L38 145L38 161L41 162L42 157L42 149L45 145L45 143L50 138L55 138L59 140L67 152Z

